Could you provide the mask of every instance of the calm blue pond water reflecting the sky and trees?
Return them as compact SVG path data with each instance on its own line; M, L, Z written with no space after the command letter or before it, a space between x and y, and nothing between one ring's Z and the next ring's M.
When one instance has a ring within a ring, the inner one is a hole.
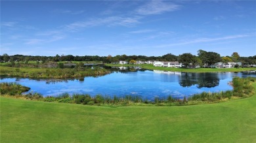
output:
M182 98L202 91L219 92L232 89L228 82L234 76L254 76L255 73L189 73L164 71L115 71L105 76L85 77L73 80L35 80L29 78L1 78L0 82L17 82L31 87L30 91L44 96L62 93L88 93L90 95L141 95L147 99L154 97Z

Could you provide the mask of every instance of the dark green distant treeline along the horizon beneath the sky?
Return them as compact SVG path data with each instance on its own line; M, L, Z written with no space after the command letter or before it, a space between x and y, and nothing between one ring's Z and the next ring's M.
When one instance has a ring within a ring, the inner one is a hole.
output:
M190 60L188 60L190 59ZM189 62L194 61L194 63L207 64L216 63L222 61L227 63L229 61L242 62L243 65L255 65L256 64L256 55L249 57L240 57L237 52L233 52L231 56L221 57L220 54L216 52L206 52L203 50L198 50L198 56L193 56L192 54L186 53L179 56L173 54L165 54L163 56L127 56L117 55L117 56L72 56L72 55L62 55L59 56L24 56L24 55L14 55L9 56L8 54L3 54L0 56L1 62L11 62L11 61L102 61L103 63L117 63L118 61L184 61L188 60Z

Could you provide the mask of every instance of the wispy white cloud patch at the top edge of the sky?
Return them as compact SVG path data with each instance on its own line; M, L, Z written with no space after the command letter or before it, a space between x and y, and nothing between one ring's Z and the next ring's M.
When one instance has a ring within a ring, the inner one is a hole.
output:
M169 12L178 10L179 5L163 3L162 1L153 0L143 5L136 10L137 14L140 15L150 15L150 14L162 14L163 12Z

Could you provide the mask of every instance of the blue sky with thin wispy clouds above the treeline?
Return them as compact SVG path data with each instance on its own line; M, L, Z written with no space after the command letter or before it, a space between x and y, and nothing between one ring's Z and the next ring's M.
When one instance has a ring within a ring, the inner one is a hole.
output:
M256 1L1 1L1 55L256 55Z

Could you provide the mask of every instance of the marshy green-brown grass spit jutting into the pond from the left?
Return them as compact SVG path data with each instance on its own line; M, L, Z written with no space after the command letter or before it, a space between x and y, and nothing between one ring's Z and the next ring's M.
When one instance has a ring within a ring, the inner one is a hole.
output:
M0 66L0 76L13 76L21 78L80 78L84 76L102 76L109 74L107 69L84 69L75 71L74 68L32 68L32 67L5 67Z

